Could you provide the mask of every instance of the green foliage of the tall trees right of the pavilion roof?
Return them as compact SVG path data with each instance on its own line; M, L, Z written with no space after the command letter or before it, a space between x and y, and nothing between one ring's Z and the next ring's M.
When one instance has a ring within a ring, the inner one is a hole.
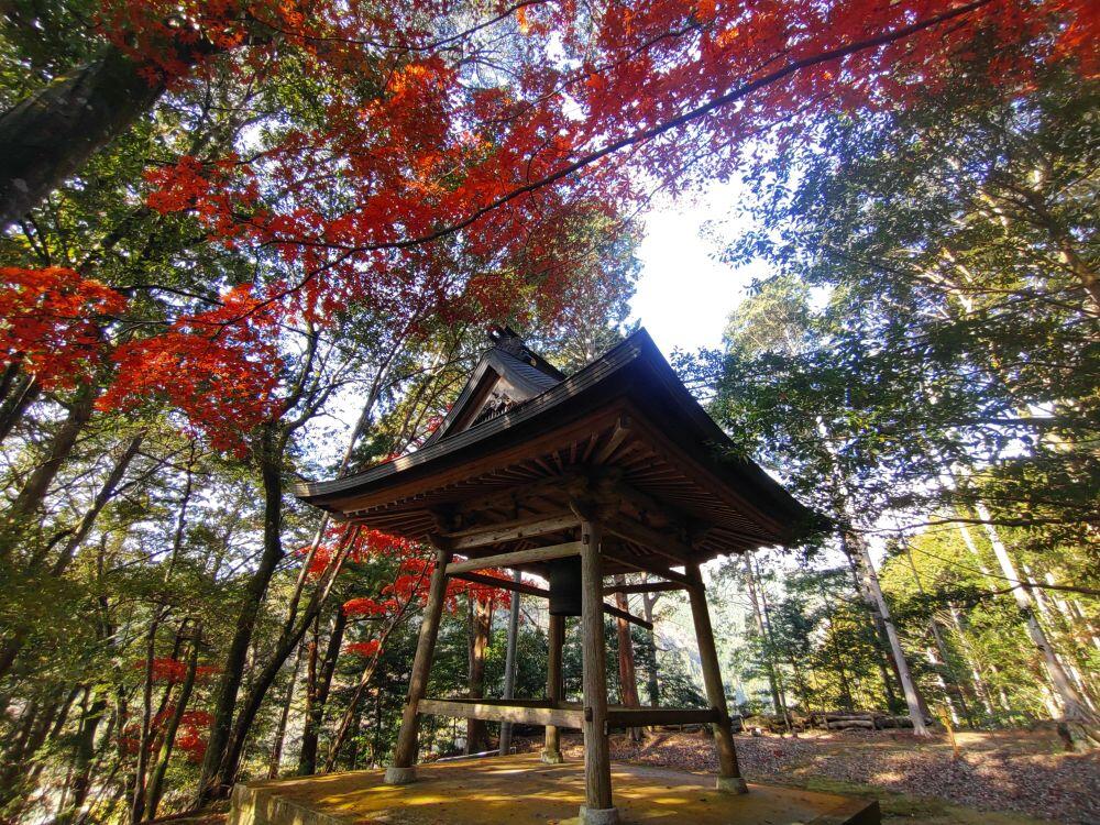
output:
M724 352L690 365L741 453L849 537L890 537L881 583L910 669L960 724L1056 713L980 506L1026 578L1069 586L1031 594L1070 679L1097 692L1097 94L1060 70L1011 96L966 75L769 155L746 178L752 229L725 255L773 274ZM770 631L740 653L801 710L898 694L847 549L820 535L766 582Z

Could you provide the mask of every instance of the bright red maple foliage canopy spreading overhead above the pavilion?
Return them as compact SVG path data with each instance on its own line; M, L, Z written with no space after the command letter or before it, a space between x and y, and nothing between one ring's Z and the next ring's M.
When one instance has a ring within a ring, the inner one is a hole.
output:
M761 136L811 139L815 118L904 106L967 72L1008 94L1044 63L1096 75L1098 18L1090 0L105 0L100 31L152 84L184 89L220 62L242 85L297 73L312 94L308 118L147 174L152 209L270 266L252 292L120 348L102 404L156 396L239 447L283 411L280 323L356 302L409 329L531 306L552 319L574 273L570 216L618 220L653 188L736 174ZM0 306L2 329L34 306ZM6 352L51 381L79 375L92 327L61 362L34 343L48 331Z

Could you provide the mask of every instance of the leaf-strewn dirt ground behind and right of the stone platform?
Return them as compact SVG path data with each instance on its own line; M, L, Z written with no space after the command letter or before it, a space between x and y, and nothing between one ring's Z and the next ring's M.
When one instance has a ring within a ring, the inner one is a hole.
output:
M961 732L957 741L956 760L945 735L931 741L888 730L736 737L750 782L875 795L887 823L1100 823L1100 755L1066 752L1050 728ZM582 758L580 736L564 737L562 747L566 758ZM615 736L612 758L716 769L710 737L700 733L659 733L640 745Z

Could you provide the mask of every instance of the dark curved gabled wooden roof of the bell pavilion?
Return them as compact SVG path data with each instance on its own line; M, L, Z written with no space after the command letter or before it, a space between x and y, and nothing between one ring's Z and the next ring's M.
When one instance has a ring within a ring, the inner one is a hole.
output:
M816 526L733 454L645 330L569 377L510 330L494 340L421 449L295 494L339 519L442 536L474 558L572 540L568 514L583 502L607 525L607 573L663 574L686 559L790 543ZM488 528L499 530L492 547L461 549Z

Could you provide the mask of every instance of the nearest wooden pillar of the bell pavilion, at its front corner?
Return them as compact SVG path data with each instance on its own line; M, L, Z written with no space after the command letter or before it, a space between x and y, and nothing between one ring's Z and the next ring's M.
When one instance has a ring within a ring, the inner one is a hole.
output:
M612 766L607 746L607 668L604 644L603 564L600 525L581 521L581 649L584 669L584 791L581 822L618 822L612 806Z

